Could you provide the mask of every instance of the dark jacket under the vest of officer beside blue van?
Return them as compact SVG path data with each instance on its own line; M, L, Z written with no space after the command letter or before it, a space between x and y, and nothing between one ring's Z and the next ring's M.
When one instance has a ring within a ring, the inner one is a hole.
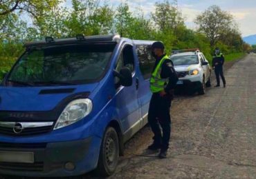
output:
M165 54L163 55L165 56ZM152 73L156 69L157 64L163 59L163 56L156 57L156 63L152 70ZM161 78L169 78L169 83L165 87L165 92L169 93L171 89L174 89L177 81L179 80L176 71L174 70L174 65L170 59L166 59L161 66Z

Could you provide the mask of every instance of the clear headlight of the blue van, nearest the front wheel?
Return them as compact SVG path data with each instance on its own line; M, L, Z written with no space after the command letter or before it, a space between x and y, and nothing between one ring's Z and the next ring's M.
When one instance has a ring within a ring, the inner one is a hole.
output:
M93 103L89 98L77 99L68 103L57 120L54 129L60 129L81 120L91 113Z

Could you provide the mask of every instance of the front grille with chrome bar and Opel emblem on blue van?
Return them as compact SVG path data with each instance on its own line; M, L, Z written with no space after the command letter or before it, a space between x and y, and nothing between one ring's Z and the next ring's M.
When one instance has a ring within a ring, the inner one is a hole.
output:
M33 136L52 131L53 122L15 123L0 122L0 134L6 136Z

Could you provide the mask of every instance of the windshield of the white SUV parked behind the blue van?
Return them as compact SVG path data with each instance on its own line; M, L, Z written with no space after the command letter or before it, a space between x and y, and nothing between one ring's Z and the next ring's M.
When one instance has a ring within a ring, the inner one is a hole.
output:
M174 65L193 65L199 63L197 55L171 56L171 60Z

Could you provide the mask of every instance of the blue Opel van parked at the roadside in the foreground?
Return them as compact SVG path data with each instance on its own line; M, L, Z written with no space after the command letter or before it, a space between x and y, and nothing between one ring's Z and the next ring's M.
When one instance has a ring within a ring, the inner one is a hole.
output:
M0 86L0 174L111 175L147 123L152 43L118 35L27 43Z

